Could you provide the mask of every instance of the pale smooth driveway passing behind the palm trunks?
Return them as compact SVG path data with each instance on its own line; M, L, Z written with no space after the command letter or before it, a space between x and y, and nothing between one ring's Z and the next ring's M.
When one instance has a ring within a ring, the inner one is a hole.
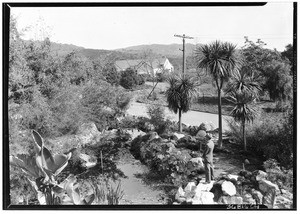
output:
M165 108L166 117L172 121L178 121L178 114L174 114L167 107ZM147 117L147 104L132 102L129 109L127 110L129 115L144 116ZM228 122L231 121L232 117L222 116L223 119L223 131L229 130ZM212 122L216 127L218 127L219 119L217 114L210 114L199 111L188 111L182 114L182 122L186 125L199 126L203 122Z

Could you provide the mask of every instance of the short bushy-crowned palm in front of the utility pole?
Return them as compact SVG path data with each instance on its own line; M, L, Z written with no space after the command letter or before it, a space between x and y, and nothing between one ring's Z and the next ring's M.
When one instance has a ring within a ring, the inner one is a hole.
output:
M181 116L191 106L191 99L195 93L195 82L189 76L171 76L168 79L169 88L166 90L168 108L179 115L179 132L182 132Z

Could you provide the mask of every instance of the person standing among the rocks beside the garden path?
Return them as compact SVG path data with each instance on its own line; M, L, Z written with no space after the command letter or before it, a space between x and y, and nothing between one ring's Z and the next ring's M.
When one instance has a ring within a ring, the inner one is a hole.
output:
M210 183L214 179L214 165L213 165L213 150L214 142L211 140L212 135L207 133L205 136L205 149L202 155L203 163L205 167L205 179L207 183Z

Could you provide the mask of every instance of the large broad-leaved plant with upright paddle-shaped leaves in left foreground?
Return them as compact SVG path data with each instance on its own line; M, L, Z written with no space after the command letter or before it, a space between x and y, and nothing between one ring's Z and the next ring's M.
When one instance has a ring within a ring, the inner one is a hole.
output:
M68 165L74 149L64 154L52 155L38 132L33 130L32 136L35 154L10 156L10 163L27 175L29 183L36 190L40 204L91 204L94 195L82 198L78 185L75 185L74 175L69 175L60 184L56 181L57 175Z

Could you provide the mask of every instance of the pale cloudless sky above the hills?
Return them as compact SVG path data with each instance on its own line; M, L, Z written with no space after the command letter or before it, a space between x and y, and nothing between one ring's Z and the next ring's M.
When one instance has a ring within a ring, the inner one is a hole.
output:
M24 39L43 39L93 49L142 44L181 44L214 40L243 46L244 36L260 38L270 49L292 43L293 3L261 7L13 7Z

